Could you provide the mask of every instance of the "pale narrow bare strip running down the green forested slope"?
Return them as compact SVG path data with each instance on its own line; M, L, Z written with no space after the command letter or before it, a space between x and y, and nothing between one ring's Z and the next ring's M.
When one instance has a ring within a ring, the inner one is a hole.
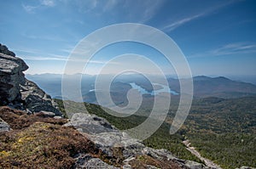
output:
M212 168L216 168L216 169L222 169L220 166L218 166L217 164L215 164L213 161L210 161L207 158L204 158L200 155L200 153L195 149L195 147L191 147L190 146L190 142L189 139L186 139L183 141L183 144L187 147L187 149L195 156L197 156L201 161L204 161L206 163L207 166L210 166Z

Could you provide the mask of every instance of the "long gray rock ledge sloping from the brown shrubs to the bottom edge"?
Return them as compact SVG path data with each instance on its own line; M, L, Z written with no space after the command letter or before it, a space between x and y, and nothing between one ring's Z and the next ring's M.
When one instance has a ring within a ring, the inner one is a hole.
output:
M87 113L74 114L71 121L65 124L66 127L76 127L86 138L89 138L98 149L112 159L115 163L121 164L121 168L184 168L184 169L207 169L195 161L178 159L166 149L152 149L146 147L139 140L131 138L127 133L120 132L105 119ZM142 163L141 159L151 161ZM104 164L100 159L90 155L79 155L76 168L90 168L88 165L99 165L102 168L115 168Z

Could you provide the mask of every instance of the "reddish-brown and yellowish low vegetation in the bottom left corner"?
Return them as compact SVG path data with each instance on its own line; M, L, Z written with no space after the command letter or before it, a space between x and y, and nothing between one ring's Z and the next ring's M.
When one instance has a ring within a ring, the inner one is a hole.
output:
M20 132L4 132L0 147L3 168L71 168L74 155L99 153L95 144L73 128L44 122Z

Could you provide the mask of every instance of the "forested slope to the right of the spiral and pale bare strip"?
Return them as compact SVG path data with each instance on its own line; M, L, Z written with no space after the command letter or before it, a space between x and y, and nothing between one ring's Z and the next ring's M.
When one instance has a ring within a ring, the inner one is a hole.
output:
M256 167L256 98L195 100L179 131L224 169Z

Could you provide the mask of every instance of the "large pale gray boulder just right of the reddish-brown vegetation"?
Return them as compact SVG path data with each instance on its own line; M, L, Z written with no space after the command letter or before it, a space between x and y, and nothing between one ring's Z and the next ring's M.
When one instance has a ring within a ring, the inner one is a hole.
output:
M87 113L74 114L71 121L65 126L73 126L80 132L86 133L87 137L93 141L99 149L112 157L113 149L123 148L122 157L128 158L133 155L142 155L145 147L137 139L131 138L127 133L120 132L117 128L109 124L105 119Z

